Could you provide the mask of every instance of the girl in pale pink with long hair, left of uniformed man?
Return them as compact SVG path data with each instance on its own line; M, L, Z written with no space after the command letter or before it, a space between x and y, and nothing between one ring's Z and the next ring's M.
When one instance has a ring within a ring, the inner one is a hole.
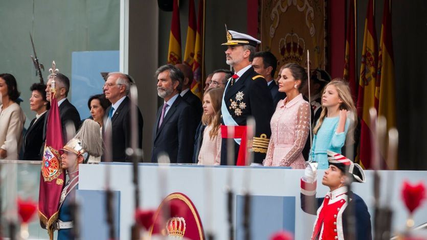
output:
M219 165L221 162L221 100L224 89L209 88L203 96L203 116L206 126L198 155L199 165Z

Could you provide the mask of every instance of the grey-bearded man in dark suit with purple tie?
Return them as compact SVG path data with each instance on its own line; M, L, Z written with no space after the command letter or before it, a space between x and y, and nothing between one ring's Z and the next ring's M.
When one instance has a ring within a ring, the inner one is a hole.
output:
M156 70L157 92L164 104L157 112L153 129L151 162L167 154L171 163L191 163L196 119L193 108L179 94L184 74L171 64Z

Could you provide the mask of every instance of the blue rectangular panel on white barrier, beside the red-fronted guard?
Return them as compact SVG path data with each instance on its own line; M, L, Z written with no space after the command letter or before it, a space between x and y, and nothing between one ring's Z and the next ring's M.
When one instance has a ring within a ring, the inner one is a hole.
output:
M236 239L244 239L244 196L236 196ZM280 230L295 233L295 197L251 196L252 239L269 239Z

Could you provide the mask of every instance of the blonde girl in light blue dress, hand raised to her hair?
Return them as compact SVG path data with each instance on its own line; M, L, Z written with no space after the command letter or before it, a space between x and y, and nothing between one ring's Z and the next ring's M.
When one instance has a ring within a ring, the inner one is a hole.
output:
M328 169L328 150L341 154L346 140L347 143L354 141L356 123L350 87L342 79L333 79L323 90L322 112L313 129L310 159L319 163L319 169Z

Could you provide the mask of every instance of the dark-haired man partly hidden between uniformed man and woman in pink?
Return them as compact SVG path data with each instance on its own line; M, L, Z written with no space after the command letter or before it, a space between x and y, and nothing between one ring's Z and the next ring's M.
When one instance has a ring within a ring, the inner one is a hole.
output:
M262 75L265 81L267 81L268 88L270 89L273 98L273 106L276 109L277 103L286 97L284 92L279 92L279 86L277 86L276 81L274 81L274 74L276 73L277 68L277 58L271 52L258 52L254 55L252 66L255 71L259 75Z

